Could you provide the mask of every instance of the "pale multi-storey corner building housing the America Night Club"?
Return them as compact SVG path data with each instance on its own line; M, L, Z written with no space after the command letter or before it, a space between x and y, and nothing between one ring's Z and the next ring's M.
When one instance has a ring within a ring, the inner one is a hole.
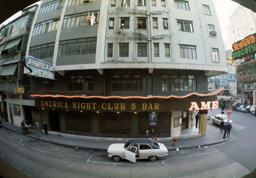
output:
M150 113L154 136L204 135L205 108L195 129L190 104L217 100L222 90L202 94L207 77L227 72L211 0L43 0L28 55L50 62L55 76L25 69L34 125L84 136L145 137Z

